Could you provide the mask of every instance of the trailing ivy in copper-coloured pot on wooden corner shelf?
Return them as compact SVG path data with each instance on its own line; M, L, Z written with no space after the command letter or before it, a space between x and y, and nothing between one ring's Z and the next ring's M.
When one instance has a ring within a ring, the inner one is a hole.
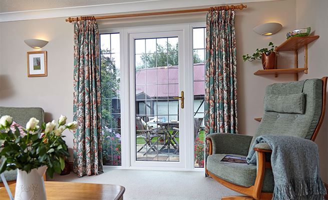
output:
M273 69L276 67L276 52L274 51L274 44L269 42L270 48L256 49L256 51L250 56L249 54L243 55L244 61L254 61L255 59L262 60L263 69Z

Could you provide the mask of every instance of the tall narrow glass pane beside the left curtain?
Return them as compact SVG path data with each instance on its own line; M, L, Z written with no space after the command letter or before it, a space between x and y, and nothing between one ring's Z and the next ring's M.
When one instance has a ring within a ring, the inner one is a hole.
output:
M104 165L121 165L120 34L100 34Z

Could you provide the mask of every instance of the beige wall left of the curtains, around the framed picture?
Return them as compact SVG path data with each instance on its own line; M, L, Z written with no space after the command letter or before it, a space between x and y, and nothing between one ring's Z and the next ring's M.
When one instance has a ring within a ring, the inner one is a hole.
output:
M0 23L0 105L38 106L46 121L61 114L73 118L73 24L64 18ZM49 43L48 76L27 77L27 51L35 49L24 39L43 38ZM72 146L72 133L67 142Z

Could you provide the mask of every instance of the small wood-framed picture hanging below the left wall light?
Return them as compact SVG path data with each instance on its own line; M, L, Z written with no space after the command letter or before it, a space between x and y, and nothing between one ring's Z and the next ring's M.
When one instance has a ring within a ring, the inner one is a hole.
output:
M47 76L47 51L28 52L28 77Z

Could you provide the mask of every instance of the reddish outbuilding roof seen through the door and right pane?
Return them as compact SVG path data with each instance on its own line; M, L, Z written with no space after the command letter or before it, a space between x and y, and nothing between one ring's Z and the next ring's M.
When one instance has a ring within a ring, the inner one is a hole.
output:
M136 72L136 93L150 97L179 95L178 66L139 69ZM204 64L194 65L194 95L204 95Z

